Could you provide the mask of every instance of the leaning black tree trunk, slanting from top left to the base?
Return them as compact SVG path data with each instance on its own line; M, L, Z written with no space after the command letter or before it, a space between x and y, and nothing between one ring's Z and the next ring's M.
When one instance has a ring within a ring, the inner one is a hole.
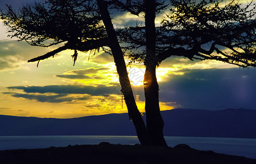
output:
M103 23L106 27L107 36L110 40L109 46L114 61L116 63L116 69L122 88L121 92L124 95L124 101L126 102L129 118L133 121L140 143L144 145L149 145L149 135L147 134L146 126L143 119L141 118L138 107L136 106L136 102L132 92L132 86L130 85L130 80L126 69L126 63L123 58L123 52L118 42L116 32L113 28L111 17L109 11L107 10L107 4L103 0L97 0L97 4L100 9Z

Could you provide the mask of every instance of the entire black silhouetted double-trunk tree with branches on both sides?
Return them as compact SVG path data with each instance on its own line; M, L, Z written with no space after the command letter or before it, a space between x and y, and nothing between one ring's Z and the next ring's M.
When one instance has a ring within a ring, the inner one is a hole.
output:
M88 51L109 47L120 77L128 114L141 144L166 146L163 120L160 114L156 67L170 56L190 60L217 60L241 67L256 66L255 60L255 4L235 1L223 5L221 1L171 0L170 14L156 27L156 14L166 10L165 1L72 1L48 0L27 5L15 13L10 6L2 13L11 37L26 40L31 45L64 44L45 55L29 60L38 61L54 56L65 49ZM109 10L144 13L141 26L113 28ZM100 21L103 21L103 24ZM63 23L65 22L65 23ZM54 29L54 30L53 30ZM74 30L75 29L75 30ZM50 44L48 40L52 41ZM141 119L123 59L123 51L131 62L144 62L146 127ZM228 52L225 52L229 49Z

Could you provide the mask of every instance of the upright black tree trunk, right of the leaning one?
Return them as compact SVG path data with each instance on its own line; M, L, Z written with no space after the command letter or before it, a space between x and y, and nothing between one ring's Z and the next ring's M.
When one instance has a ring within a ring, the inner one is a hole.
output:
M156 66L159 62L156 56L156 2L145 1L145 32L146 32L146 58L144 65L145 111L146 126L151 143L157 146L167 146L163 137L163 119L159 107L159 88L156 79Z

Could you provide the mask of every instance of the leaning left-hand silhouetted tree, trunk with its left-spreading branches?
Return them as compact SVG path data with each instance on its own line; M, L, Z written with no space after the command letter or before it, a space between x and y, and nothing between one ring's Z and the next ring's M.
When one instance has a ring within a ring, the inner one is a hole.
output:
M1 12L1 19L9 27L10 37L25 40L35 46L62 44L58 49L28 62L39 63L60 51L71 49L75 51L72 55L75 64L77 51L105 50L109 47L116 63L129 118L133 121L140 143L148 145L149 136L135 103L123 51L118 43L108 6L103 0L45 0L43 3L26 5L19 12L7 5L8 11Z

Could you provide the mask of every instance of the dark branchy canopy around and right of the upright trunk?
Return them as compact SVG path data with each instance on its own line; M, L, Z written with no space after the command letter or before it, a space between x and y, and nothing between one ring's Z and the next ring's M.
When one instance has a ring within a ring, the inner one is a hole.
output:
M217 60L241 67L256 66L255 2L170 1L172 8L156 27L156 55L191 60ZM132 61L144 61L145 26L118 30Z

